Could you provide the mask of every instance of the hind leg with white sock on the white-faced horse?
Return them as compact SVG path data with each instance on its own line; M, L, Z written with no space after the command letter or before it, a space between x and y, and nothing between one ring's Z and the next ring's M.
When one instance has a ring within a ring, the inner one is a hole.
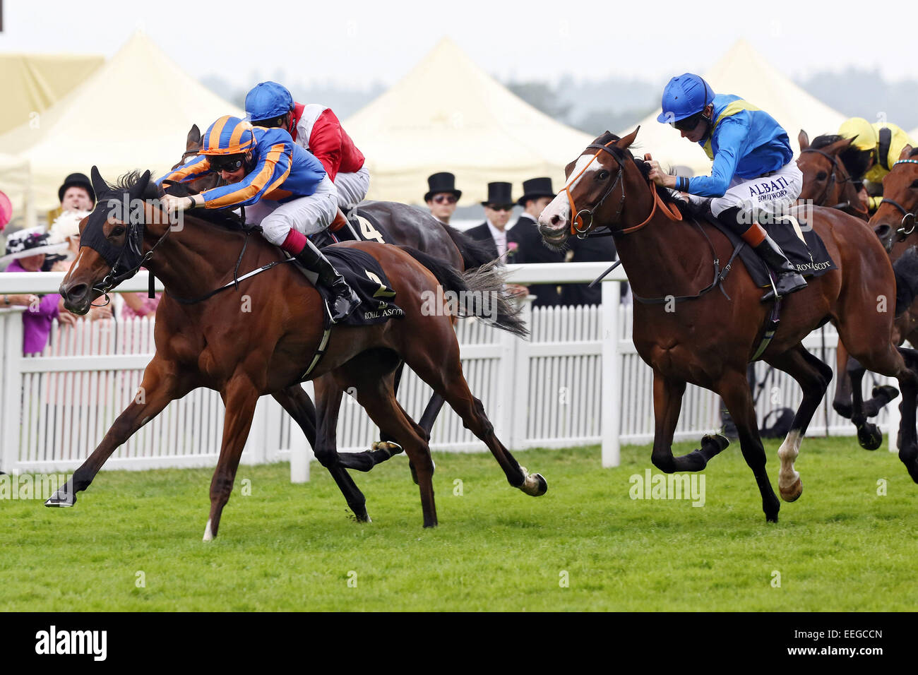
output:
M796 501L803 491L803 483L800 481L800 474L794 469L794 460L800 454L800 443L803 441L803 436L832 380L832 368L807 352L800 343L783 354L768 357L766 361L797 380L800 388L803 389L800 408L794 415L794 421L790 424L790 431L784 443L778 448L778 459L781 460L781 468L778 472L778 492L782 500Z

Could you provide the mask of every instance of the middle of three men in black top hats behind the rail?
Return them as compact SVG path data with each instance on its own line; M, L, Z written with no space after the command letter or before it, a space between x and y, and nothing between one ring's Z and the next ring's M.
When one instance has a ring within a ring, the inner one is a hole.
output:
M564 263L564 253L549 249L542 243L539 234L538 219L543 208L554 199L551 178L532 178L523 181L523 195L517 200L523 208L520 219L510 229L507 238L509 246L516 243L516 251L512 253L509 263ZM561 304L561 293L558 286L552 284L539 284L531 287L530 292L535 296L533 307L554 307Z

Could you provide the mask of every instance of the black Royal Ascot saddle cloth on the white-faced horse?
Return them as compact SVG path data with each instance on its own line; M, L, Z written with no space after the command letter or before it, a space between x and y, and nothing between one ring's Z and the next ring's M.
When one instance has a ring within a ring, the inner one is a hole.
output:
M800 223L800 231L803 233L803 240L800 240L797 229L792 223L784 220L763 225L762 227L765 228L768 236L781 247L781 251L788 256L790 264L797 269L801 276L823 276L826 272L838 269L832 257L829 255L829 252L825 250L823 240L816 234L816 231L812 229L810 223L803 219L800 209L794 210L795 212L792 215L794 215ZM708 221L723 232L727 239L733 244L734 248L737 244L743 242L740 237L733 234L733 231L726 228L720 220L714 218L710 211L706 215ZM749 271L749 276L752 276L753 281L756 282L756 286L771 287L771 281L768 277L768 267L762 259L758 257L752 247L746 244L740 249L739 255L746 269Z

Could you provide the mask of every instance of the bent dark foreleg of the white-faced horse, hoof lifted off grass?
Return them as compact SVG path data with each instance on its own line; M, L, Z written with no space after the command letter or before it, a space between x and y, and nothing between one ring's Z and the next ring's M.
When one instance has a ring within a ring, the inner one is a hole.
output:
M654 371L654 449L650 459L655 467L666 473L700 471L708 466L711 457L720 454L730 444L721 434L713 434L701 439L699 449L688 455L673 456L673 434L676 432L685 390L685 382L667 379ZM730 412L733 414L733 411Z

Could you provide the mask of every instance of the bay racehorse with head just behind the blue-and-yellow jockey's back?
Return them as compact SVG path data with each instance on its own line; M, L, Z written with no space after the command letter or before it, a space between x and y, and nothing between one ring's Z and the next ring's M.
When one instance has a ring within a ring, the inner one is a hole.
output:
M800 129L797 140L800 143L797 166L803 174L800 203L838 208L867 222L870 217L868 208L857 197L854 182L839 157L840 153L850 147L853 139L823 135L817 136L811 144L807 132ZM904 324L909 321L913 321L911 308L896 318L897 331L901 332ZM855 360L849 359L841 341L835 350L835 365L838 381L835 384L832 407L842 417L856 421L857 440L862 447L876 450L883 443L883 433L876 424L867 422L867 418L876 417L883 406L899 396L899 391L889 385L875 387L871 398L865 401L861 392L861 380L866 371Z

